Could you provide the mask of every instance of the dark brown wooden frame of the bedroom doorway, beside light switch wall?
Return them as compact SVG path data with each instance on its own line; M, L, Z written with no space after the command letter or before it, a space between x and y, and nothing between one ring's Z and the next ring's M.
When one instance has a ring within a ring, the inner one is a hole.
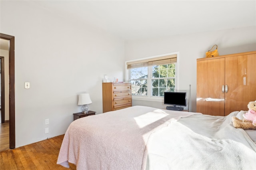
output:
M9 40L9 119L10 149L15 148L15 67L14 67L14 36L0 33L0 38Z

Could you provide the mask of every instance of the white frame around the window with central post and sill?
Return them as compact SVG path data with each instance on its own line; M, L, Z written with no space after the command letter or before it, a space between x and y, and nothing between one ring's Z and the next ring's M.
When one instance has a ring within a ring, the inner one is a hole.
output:
M125 61L125 79L126 82L129 82L129 74L130 74L130 69L127 69L127 63L128 62L132 62L132 61L141 61L141 60L145 60L145 59L152 59L152 58L157 58L157 57L164 57L166 55L177 55L177 61L176 61L176 90L179 90L180 87L180 81L179 81L179 70L180 70L180 53L179 51L176 52L172 52L172 53L165 53L165 54L161 54L161 55L154 55L151 57L144 57L144 58L140 58L140 59L133 59L133 60L129 60L129 61ZM148 91L147 91L147 95L146 96L140 96L140 95L132 95L132 99L133 100L142 100L142 101L156 101L156 102L163 102L164 101L164 97L161 96L151 96L151 89L152 89L152 85L151 85L151 80L154 79L152 77L152 66L148 66L151 67L148 69L148 78L147 80L148 82Z

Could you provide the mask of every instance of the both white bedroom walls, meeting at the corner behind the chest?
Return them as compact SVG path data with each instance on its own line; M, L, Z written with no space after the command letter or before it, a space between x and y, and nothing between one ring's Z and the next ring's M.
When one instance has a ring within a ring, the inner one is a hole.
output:
M196 111L196 58L218 44L220 55L256 50L255 27L126 42L31 1L1 1L0 32L15 36L16 147L64 134L80 112L77 95L102 113L102 79L124 80L124 61L180 51L180 90L192 88ZM125 55L124 55L125 53ZM24 89L24 82L31 88ZM133 105L163 107L133 101ZM50 119L49 125L44 120ZM44 128L49 133L44 134Z

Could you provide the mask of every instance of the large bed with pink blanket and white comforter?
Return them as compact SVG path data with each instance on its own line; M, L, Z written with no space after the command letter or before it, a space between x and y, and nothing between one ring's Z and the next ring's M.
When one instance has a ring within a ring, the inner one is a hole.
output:
M240 113L133 106L84 117L68 127L57 164L68 168L70 162L78 170L256 169L255 131L232 125Z

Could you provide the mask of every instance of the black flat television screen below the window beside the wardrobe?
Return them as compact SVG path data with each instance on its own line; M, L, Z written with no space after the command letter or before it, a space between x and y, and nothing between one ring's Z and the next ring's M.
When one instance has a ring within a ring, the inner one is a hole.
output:
M186 106L186 93L164 92L164 104Z

